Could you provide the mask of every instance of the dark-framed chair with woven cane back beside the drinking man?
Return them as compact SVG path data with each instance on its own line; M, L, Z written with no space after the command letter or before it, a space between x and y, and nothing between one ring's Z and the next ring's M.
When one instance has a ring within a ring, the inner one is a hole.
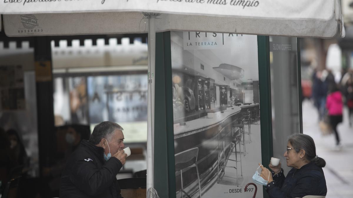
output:
M146 178L126 178L117 181L122 197L146 198Z

